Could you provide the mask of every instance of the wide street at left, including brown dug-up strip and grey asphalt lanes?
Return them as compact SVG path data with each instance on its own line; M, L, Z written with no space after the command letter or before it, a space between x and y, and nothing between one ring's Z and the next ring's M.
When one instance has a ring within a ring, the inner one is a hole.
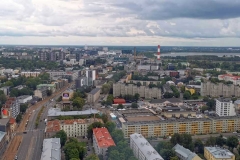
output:
M61 90L53 93L52 96L47 97L46 99L38 102L37 104L30 106L26 113L23 115L23 119L20 122L16 135L10 141L4 155L2 156L2 160L14 160L15 156L19 156L19 160L39 160L41 157L41 148L42 142L44 138L44 118L47 117L48 108L55 103L55 99L59 97L59 95L65 91L67 88L72 86L73 83L68 84ZM51 99L54 101L51 104L48 104ZM40 111L41 107L45 106L43 110L43 114L40 119L43 119L42 122L39 123L37 129L35 128L35 120L37 118L37 114ZM27 127L26 127L26 123ZM27 132L24 134L24 132Z

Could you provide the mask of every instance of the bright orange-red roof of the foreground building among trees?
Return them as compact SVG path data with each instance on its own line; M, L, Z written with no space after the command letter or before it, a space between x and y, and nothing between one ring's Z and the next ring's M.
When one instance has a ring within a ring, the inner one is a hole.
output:
M96 137L97 144L100 148L116 146L107 128L94 128L93 135Z

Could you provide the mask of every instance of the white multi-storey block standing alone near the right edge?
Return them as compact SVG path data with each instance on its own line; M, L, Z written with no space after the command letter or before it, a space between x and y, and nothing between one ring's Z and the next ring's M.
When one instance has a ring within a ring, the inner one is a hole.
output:
M218 116L236 116L234 103L230 98L216 99L216 114Z

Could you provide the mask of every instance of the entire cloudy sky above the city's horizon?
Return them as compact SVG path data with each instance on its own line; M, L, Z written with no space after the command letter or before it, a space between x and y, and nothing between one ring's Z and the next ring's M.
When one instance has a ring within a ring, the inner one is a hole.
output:
M0 44L240 46L240 0L0 0Z

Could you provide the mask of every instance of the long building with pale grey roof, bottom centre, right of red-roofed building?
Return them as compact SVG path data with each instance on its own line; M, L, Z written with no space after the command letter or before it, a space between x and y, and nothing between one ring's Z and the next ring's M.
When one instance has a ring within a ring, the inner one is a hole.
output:
M141 134L134 133L130 135L130 148L138 160L163 160Z

